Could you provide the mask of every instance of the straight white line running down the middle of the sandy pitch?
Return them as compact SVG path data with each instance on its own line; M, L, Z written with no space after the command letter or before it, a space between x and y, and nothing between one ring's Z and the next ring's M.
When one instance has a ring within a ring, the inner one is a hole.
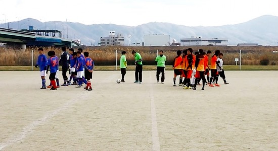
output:
M154 90L152 83L152 74L150 73L150 97L151 97L151 113L152 113L152 140L153 140L153 150L160 151L160 143L159 143L159 135L157 128L157 120L156 120L156 110L155 110L155 98L154 98Z

